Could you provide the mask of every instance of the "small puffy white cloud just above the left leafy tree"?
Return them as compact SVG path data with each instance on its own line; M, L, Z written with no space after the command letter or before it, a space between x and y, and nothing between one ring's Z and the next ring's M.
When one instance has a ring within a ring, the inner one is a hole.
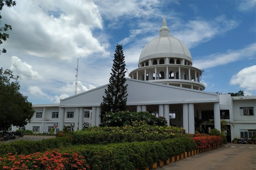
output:
M11 57L11 70L17 74L20 79L43 79L41 75L38 74L37 71L32 70L32 66L27 64L26 62L22 62L18 57Z

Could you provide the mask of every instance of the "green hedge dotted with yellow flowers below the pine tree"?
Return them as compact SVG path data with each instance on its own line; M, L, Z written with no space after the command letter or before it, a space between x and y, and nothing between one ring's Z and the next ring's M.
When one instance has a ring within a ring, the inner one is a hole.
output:
M74 144L118 143L162 140L187 136L185 130L173 126L150 126L147 124L124 127L94 127L74 132Z

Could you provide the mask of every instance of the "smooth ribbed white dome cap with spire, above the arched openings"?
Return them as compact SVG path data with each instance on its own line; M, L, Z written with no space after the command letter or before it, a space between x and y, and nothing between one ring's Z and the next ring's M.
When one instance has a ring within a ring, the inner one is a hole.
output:
M163 19L160 36L151 40L141 51L139 63L160 57L185 59L192 63L192 57L187 46L179 39L169 36L166 20Z

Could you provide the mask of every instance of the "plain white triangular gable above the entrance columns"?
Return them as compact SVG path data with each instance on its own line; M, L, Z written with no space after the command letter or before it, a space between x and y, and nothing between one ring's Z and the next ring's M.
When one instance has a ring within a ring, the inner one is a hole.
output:
M218 94L160 83L126 79L127 105L219 102ZM100 106L108 84L60 101L60 107Z

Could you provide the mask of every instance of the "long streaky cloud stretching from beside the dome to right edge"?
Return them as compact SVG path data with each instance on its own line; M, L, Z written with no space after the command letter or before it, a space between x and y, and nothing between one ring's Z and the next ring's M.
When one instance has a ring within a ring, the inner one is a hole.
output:
M213 54L207 57L202 57L201 60L195 60L193 66L197 68L212 68L219 65L225 65L239 60L247 60L255 58L256 43L250 44L240 50L228 50L226 53Z

